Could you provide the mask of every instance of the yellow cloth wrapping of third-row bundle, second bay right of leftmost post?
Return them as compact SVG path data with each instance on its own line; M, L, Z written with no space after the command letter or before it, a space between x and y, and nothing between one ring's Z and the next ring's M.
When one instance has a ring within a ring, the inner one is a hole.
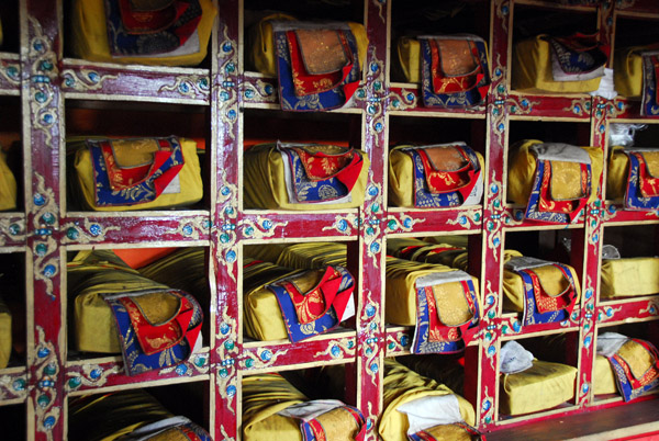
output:
M245 263L249 262L248 259ZM275 293L265 285L299 272L270 262L254 263L243 269L243 319L247 337L257 340L288 339Z

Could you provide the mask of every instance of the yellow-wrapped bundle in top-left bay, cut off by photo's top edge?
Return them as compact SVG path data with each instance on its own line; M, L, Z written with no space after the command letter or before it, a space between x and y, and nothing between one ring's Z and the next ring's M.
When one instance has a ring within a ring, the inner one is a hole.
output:
M71 48L92 61L198 65L215 14L211 0L76 0Z

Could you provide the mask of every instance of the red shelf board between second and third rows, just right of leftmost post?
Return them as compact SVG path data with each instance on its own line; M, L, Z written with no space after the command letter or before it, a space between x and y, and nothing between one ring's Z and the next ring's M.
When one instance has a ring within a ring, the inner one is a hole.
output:
M68 213L62 219L62 244L76 246L160 242L199 242L210 240L210 213L121 212Z

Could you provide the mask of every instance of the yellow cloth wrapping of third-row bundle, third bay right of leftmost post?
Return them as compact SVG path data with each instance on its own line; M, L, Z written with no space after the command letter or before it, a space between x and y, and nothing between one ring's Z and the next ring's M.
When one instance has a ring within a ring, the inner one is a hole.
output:
M454 269L443 264L420 263L404 259L388 258L386 270L386 321L404 326L416 325L416 280L424 275L448 271L454 271ZM478 279L472 276L471 281L473 282L473 289L476 290L476 297L478 301L478 298L480 298L478 293ZM450 287L462 292L462 286L460 284L450 283ZM437 305L437 307L439 307L439 305ZM442 309L448 315L451 313L462 313L454 309ZM479 307L479 310L482 309ZM443 313L443 310L438 312L440 314Z

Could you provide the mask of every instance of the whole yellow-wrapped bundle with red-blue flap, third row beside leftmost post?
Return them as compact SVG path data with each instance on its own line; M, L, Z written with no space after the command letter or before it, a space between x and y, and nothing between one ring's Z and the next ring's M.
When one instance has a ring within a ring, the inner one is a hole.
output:
M121 352L127 375L176 365L201 347L197 299L143 278L112 251L80 251L68 281L77 349Z

